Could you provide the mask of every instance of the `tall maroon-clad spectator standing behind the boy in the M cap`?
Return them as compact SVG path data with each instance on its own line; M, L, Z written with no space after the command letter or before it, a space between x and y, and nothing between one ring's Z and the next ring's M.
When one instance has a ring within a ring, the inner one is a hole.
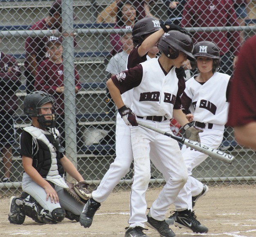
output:
M36 22L36 24L31 27L31 30L58 30L61 32L61 23L61 0L56 0L49 10L49 16ZM73 33L71 33L71 35L73 35ZM37 75L37 66L40 64L40 62L48 58L45 46L47 40L47 36L28 37L26 39L25 76L27 78L27 93L34 91L34 81ZM74 43L76 44L75 41Z

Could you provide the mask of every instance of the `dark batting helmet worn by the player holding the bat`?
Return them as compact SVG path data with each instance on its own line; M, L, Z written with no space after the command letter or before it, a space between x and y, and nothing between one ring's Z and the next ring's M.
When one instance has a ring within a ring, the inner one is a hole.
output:
M157 47L167 58L175 59L179 56L179 52L182 51L187 55L189 60L195 61L195 57L192 54L194 47L193 41L189 35L180 31L168 31L164 33ZM172 49L173 52L171 52L170 49Z

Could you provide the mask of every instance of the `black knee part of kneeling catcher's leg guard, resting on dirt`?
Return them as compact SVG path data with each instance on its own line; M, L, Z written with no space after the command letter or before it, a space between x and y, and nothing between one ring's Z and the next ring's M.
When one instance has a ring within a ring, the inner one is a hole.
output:
M42 213L42 221L45 224L56 224L57 222L63 221L65 218L65 210L63 208L55 208L52 212L44 210Z

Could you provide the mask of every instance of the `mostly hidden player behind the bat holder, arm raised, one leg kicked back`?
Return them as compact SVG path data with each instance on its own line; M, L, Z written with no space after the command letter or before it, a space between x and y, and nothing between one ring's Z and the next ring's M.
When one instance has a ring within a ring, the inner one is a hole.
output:
M184 29L174 25L166 25L162 27L166 31L169 29L169 27L184 31ZM156 58L156 54L159 52L156 44L163 33L164 30L160 28L159 21L155 18L144 18L139 20L132 29L133 44L137 47L130 52L128 56L127 67L131 68L140 62L144 62L150 58ZM184 71L177 71L177 74L179 76L183 76L183 72ZM125 104L130 106L132 90L124 93L122 98L125 101ZM116 127L117 157L115 158L115 161L110 165L108 172L106 175L104 175L97 190L93 191L93 198L90 199L89 202L85 205L83 213L80 217L80 223L85 228L91 226L93 216L98 210L100 202L103 202L107 199L108 195L112 192L113 188L117 185L119 180L129 171L130 164L133 159L130 144L130 128L126 126L119 114L117 114Z

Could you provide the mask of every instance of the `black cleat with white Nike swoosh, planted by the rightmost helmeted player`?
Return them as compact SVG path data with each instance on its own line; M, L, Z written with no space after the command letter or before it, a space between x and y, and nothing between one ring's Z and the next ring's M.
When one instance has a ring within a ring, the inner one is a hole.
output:
M174 226L190 229L195 233L208 232L208 228L201 225L201 223L196 219L195 213L191 212L191 210L189 210L189 213L186 214L177 213L174 219Z

